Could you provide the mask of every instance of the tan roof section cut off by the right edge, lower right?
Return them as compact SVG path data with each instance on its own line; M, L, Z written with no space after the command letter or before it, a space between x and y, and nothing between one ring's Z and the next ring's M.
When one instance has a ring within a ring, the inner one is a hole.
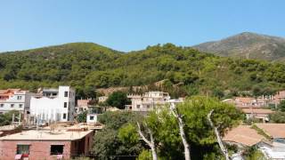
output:
M285 138L285 124L256 124L256 126L273 138Z

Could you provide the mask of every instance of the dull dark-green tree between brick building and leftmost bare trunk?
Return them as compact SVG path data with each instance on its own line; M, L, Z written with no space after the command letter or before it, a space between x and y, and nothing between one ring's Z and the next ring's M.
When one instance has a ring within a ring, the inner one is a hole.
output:
M134 128L127 123L134 123L142 119L140 115L132 112L105 112L99 116L99 122L105 127L94 135L93 151L96 159L115 159L115 156L137 156L142 150L139 141L129 143L126 140L126 131L134 132ZM126 126L126 130L122 129Z

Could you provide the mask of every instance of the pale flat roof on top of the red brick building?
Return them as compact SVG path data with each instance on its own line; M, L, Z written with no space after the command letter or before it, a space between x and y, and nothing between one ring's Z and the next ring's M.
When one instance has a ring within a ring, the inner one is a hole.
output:
M29 130L1 137L0 140L80 140L93 130L67 131L67 130Z

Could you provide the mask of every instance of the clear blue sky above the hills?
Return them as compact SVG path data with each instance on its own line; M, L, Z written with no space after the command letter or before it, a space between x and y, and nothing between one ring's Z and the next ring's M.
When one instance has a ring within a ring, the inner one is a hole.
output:
M129 52L240 32L285 37L284 0L1 0L0 52L93 42Z

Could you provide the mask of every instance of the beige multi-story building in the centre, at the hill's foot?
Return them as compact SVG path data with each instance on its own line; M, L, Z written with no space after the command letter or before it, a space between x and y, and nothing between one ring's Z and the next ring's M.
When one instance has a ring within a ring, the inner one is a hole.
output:
M150 111L156 107L167 104L170 100L168 92L145 92L144 94L128 94L127 98L132 101L126 105L126 110Z

